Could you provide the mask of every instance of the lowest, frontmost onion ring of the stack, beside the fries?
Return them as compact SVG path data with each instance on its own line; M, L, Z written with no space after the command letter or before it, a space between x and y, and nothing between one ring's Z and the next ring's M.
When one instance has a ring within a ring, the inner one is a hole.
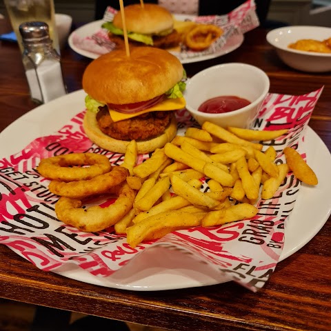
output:
M55 204L57 218L85 232L98 232L109 228L124 217L132 208L135 191L126 182L117 187L117 200L106 208L94 205L83 209L82 201L61 197Z

